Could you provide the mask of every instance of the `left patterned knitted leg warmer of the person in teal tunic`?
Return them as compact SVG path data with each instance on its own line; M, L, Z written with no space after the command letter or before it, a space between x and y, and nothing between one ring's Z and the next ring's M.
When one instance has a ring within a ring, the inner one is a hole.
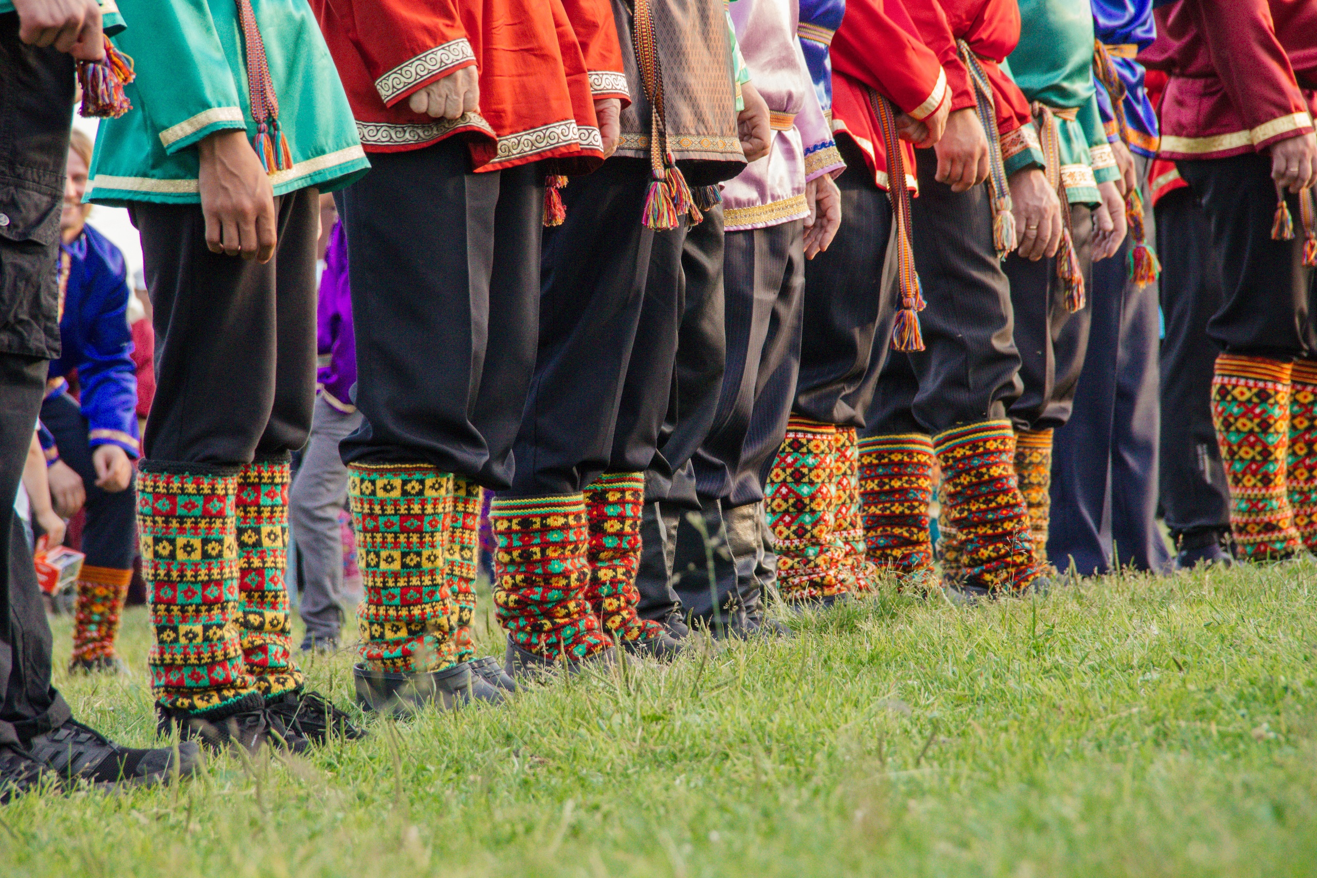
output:
M155 629L146 661L162 712L217 719L262 704L238 628L238 467L176 466L145 461L137 473L142 578Z

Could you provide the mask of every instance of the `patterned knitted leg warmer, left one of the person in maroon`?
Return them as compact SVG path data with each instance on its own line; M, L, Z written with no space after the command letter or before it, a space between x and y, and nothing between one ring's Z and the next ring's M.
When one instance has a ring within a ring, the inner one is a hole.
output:
M1230 486L1230 529L1249 559L1303 550L1289 507L1291 363L1221 354L1212 378L1212 423Z

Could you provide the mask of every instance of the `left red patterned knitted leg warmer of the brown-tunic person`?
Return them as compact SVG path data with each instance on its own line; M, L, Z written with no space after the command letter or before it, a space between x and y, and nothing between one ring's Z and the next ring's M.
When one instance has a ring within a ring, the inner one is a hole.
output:
M511 642L544 661L578 662L614 642L590 608L590 520L579 494L500 498L494 529L494 604Z

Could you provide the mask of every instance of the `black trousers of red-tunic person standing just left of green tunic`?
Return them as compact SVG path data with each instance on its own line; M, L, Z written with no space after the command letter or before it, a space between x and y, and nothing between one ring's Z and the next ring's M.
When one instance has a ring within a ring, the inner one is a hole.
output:
M993 247L988 186L952 192L935 179L932 150L915 150L915 157L914 262L928 303L919 312L925 350L888 358L865 436L938 434L1001 419L1021 392L1010 282Z

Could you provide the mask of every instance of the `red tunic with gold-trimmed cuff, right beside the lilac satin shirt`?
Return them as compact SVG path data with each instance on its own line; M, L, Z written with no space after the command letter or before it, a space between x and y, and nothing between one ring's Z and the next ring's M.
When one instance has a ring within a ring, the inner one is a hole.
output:
M902 0L848 0L846 17L832 37L831 58L832 129L855 140L878 187L885 190L888 158L869 90L914 118L926 118L950 99L947 75ZM901 147L906 182L914 188L909 174L914 170L914 151L905 142Z

